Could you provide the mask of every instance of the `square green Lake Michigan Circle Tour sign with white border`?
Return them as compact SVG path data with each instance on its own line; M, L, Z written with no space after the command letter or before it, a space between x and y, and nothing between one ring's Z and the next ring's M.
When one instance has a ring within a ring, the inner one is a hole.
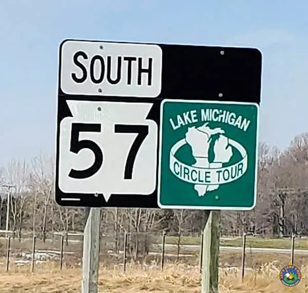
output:
M255 103L162 101L159 206L253 209L258 113Z

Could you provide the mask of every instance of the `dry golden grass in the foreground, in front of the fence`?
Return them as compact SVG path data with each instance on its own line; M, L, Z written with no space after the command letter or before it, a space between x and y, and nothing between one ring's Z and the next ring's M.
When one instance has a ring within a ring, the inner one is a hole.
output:
M65 268L60 271L58 264L37 265L34 273L29 267L13 266L6 273L0 269L1 293L72 293L81 291L81 269ZM248 272L241 282L239 273L222 270L220 272L220 292L237 293L284 293L289 292L276 277L276 272L268 270L269 265L258 271ZM301 268L307 273L307 268ZM278 271L277 271L278 272ZM292 293L307 293L308 280L303 279ZM166 265L164 271L157 267L129 264L124 274L121 268L101 268L99 292L179 292L199 293L200 274L198 267L185 264Z

